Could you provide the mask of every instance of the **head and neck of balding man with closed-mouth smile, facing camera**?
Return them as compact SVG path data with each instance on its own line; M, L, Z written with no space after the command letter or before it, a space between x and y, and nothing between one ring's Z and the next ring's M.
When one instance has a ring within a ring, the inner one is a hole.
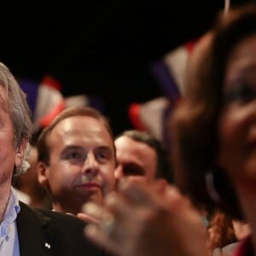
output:
M41 132L37 148L38 180L56 212L77 215L85 202L101 203L113 191L113 135L95 108L63 110Z

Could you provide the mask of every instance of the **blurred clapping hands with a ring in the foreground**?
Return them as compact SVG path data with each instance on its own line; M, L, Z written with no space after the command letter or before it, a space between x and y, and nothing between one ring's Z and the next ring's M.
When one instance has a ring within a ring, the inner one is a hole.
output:
M104 205L85 204L98 219L85 236L119 256L207 255L201 215L173 186L125 180Z

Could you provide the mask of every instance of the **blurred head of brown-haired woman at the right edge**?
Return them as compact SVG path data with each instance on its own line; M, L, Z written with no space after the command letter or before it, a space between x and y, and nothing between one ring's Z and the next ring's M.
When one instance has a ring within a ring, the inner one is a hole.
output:
M232 185L241 199L238 187L256 183L256 7L220 15L190 64L172 118L176 181L195 203L213 207L205 180L217 173L220 207L241 218Z

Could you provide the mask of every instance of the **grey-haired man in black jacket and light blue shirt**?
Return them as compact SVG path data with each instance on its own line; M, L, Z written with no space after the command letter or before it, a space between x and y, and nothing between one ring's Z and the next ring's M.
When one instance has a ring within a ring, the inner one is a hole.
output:
M102 255L84 239L85 223L18 201L12 181L29 165L30 110L9 68L0 63L0 255Z

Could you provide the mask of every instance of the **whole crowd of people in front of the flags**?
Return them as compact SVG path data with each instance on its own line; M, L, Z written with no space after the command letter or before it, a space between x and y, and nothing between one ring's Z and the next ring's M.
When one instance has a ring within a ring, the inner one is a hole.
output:
M33 134L1 63L0 255L255 255L255 4L218 15L185 81L165 148L90 107Z

